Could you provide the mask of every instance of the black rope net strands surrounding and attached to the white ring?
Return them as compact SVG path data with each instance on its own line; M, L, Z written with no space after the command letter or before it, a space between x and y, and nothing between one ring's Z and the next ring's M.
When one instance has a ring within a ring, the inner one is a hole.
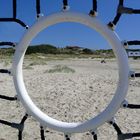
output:
M63 4L63 10L68 10L68 7L69 7L68 0L63 0L62 4ZM89 15L97 16L97 12L98 12L97 9L98 9L97 0L92 0L92 9L90 10ZM117 23L121 20L121 17L124 14L140 14L140 10L125 7L124 0L119 0L118 8L116 11L116 16L114 17L113 21L108 23L108 26L111 30L115 30ZM42 15L42 13L41 13L40 0L36 0L36 17L39 18L41 15ZM13 0L13 16L10 18L0 18L0 22L16 22L16 23L20 24L22 27L24 27L25 29L28 29L28 25L26 25L24 23L24 21L21 21L20 19L17 18L17 0ZM4 46L4 45L15 47L16 43L0 42L0 46ZM124 41L123 45L125 48L127 48L128 46L131 46L131 45L140 45L140 40ZM10 70L7 70L7 69L0 69L0 73L9 74L9 75L11 74ZM130 77L131 78L140 77L140 73L133 72L130 75ZM0 95L0 98L2 100L8 100L8 101L17 101L18 100L17 96L8 97L5 95ZM122 107L127 108L127 109L140 109L140 105L129 104L127 101L124 101L124 103L122 104ZM5 121L2 119L0 119L0 123L3 125L6 125L6 126L10 126L14 129L17 129L18 130L18 140L22 140L24 124L25 124L25 121L28 119L28 117L29 117L29 115L26 113L23 116L23 118L21 119L20 123L12 123L12 122ZM125 140L125 139L132 139L134 137L140 137L140 133L123 133L122 130L120 129L120 127L118 126L118 124L114 120L110 121L109 123L112 125L114 130L117 132L118 140ZM97 140L96 132L94 132L94 131L91 132L91 135L94 140ZM64 137L66 140L70 140L70 135L64 134ZM43 126L40 126L40 139L45 140L45 130L44 130Z

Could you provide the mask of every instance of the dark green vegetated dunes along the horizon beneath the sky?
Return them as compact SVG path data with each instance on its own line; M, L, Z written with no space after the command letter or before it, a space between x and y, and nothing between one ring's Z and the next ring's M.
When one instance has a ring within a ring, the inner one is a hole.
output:
M14 54L13 48L1 48L0 49L0 57L5 58L5 56L9 57ZM88 48L81 48L78 46L66 46L65 48L57 48L53 45L42 44L36 46L29 46L26 51L26 56L32 56L32 58L36 58L36 56L46 56L46 54L64 56L70 55L70 57L89 57L92 58L112 58L114 57L114 53L112 49L109 50L91 50ZM48 56L48 55L47 55Z

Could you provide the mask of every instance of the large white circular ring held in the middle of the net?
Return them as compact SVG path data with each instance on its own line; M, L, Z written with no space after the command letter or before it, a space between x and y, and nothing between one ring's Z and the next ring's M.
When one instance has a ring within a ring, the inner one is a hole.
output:
M61 22L81 23L99 32L112 46L118 62L119 80L113 99L103 112L83 123L67 123L47 116L32 102L23 80L23 59L30 42L43 29ZM93 18L89 15L75 12L60 12L38 19L37 22L26 31L20 43L16 46L12 74L18 97L27 113L39 121L42 126L64 133L92 131L103 123L110 121L120 108L127 94L129 83L128 57L117 34L110 30L107 25L102 24L96 17Z

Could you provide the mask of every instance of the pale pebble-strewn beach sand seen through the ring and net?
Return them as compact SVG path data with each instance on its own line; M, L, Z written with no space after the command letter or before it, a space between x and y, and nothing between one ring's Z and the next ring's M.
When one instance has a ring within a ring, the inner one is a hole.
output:
M140 60L130 60L130 66L140 72ZM67 66L68 70L50 72L55 66ZM10 65L0 63L0 68ZM98 59L52 60L44 64L25 61L24 80L34 103L49 116L67 122L88 120L103 111L111 101L117 86L118 67L113 59L101 64ZM130 103L140 103L140 79L130 81L126 99ZM0 94L15 96L12 76L0 74ZM19 101L0 100L0 119L19 123L25 109ZM140 110L120 109L116 122L124 133L140 131ZM39 123L29 117L25 123L23 138L40 140ZM63 140L63 133L46 128L47 140ZM117 135L108 123L98 128L99 140L117 140ZM0 140L16 140L18 131L0 125ZM86 132L73 134L72 140L92 140Z

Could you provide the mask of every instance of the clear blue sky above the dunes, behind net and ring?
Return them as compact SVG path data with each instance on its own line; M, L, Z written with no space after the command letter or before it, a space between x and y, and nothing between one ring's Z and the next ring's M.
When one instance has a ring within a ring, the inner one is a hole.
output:
M31 26L36 21L35 0L17 0L17 17ZM119 0L98 0L99 19L112 21ZM89 13L92 0L69 0L71 11ZM125 0L125 6L140 9L139 0ZM59 12L62 0L41 0L42 13L47 16ZM12 0L0 0L0 17L12 16ZM123 15L116 32L121 40L140 40L140 15ZM19 42L25 29L17 23L0 22L0 41ZM109 44L95 31L76 23L61 23L45 29L32 44L52 44L57 47L76 45L91 49L108 49Z

